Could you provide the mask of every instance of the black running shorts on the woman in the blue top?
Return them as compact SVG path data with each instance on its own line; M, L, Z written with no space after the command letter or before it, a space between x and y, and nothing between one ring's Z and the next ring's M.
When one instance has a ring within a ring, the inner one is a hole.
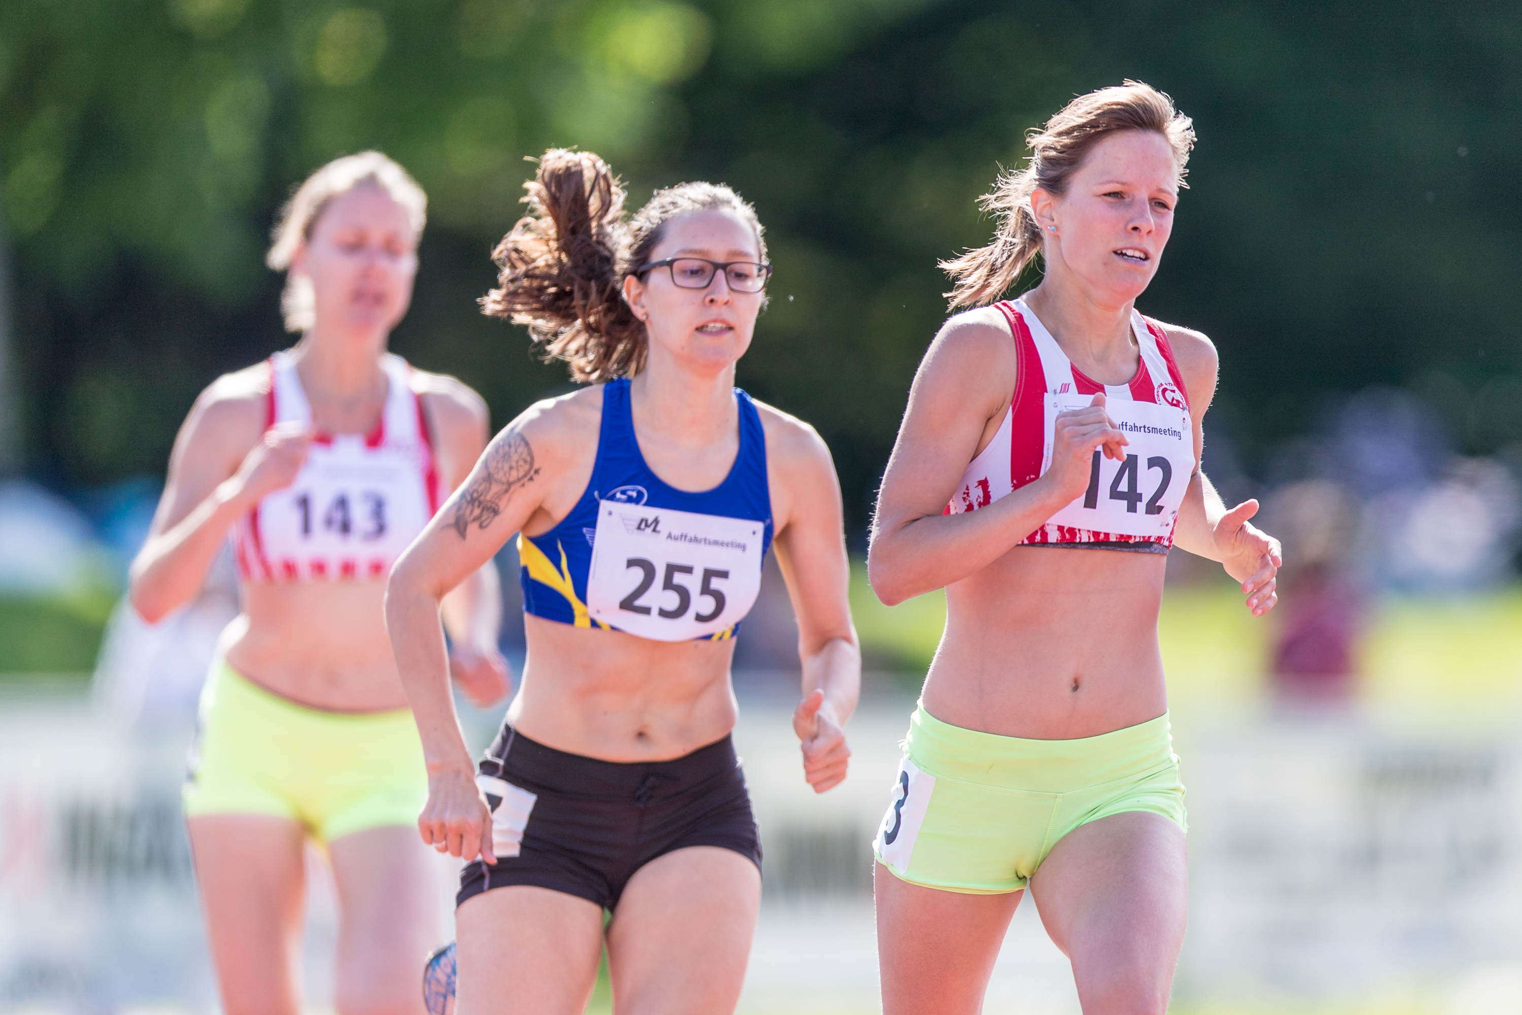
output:
M671 761L601 761L528 740L511 726L481 759L495 864L460 873L457 904L531 884L618 905L629 878L686 846L732 849L761 866L750 794L729 737Z

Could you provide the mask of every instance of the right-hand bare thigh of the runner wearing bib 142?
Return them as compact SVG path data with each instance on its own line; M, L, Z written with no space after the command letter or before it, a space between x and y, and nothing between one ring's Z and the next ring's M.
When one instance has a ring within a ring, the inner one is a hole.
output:
M1058 842L1030 890L1084 1012L1166 1010L1187 887L1184 832L1160 814L1113 814Z

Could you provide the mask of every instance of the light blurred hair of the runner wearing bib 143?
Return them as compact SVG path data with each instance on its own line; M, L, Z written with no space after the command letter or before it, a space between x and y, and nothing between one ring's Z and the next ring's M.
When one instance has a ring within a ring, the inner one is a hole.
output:
M312 239L312 230L317 228L317 221L327 205L355 187L385 190L406 210L406 218L412 224L412 239L422 237L423 225L428 222L428 195L405 169L380 152L359 152L335 158L297 187L275 216L272 243L265 263L274 271L288 269L297 248ZM280 294L280 310L288 332L304 332L312 327L312 282L288 274L285 291Z

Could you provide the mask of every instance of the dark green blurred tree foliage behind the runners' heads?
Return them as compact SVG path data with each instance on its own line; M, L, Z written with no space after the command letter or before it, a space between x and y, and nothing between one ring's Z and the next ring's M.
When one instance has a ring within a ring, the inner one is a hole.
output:
M816 423L866 522L936 259L1068 96L1145 79L1199 148L1143 309L1221 347L1248 463L1339 393L1415 388L1464 450L1522 438L1522 8L1049 0L9 0L0 178L26 467L161 472L216 373L286 344L274 210L368 146L431 198L394 336L505 423L566 385L481 318L522 161L580 145L642 201L729 183L767 224L741 383Z

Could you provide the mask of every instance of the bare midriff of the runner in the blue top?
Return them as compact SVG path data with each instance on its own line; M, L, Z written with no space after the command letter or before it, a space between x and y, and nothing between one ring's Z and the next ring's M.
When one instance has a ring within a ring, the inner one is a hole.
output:
M603 761L668 761L723 740L740 714L734 639L662 642L524 615L513 729Z

